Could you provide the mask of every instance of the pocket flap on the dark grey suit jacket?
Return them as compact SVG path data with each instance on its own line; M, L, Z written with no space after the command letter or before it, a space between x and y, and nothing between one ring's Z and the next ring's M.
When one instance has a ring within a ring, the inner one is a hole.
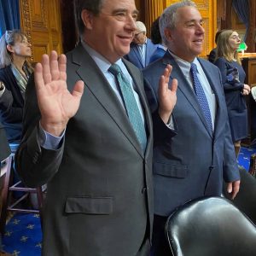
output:
M112 197L67 197L65 212L86 214L110 214L113 212Z

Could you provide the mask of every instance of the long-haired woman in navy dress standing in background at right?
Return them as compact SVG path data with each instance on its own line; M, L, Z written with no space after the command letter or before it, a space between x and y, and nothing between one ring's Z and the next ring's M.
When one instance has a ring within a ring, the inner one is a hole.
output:
M241 38L237 32L221 32L217 40L217 58L214 62L222 75L236 157L241 148L241 139L247 137L247 105L244 96L250 93L250 86L244 84L246 73L237 54L239 44Z

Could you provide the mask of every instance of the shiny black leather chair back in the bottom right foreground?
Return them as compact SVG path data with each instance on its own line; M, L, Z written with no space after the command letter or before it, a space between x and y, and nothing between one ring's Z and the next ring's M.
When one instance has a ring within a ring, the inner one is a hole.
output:
M256 255L256 227L223 197L189 201L168 218L166 236L174 256Z

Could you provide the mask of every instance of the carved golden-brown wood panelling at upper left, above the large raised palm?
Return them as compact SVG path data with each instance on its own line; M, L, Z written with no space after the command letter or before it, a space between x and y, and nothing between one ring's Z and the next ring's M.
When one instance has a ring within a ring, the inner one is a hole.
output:
M60 0L20 0L20 24L32 44L32 62L55 49L62 53Z

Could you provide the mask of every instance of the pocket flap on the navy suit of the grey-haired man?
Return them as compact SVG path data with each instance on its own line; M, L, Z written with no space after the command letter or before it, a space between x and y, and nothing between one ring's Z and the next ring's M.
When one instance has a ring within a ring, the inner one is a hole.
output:
M153 164L154 174L167 177L187 177L188 166L168 165L163 163Z

